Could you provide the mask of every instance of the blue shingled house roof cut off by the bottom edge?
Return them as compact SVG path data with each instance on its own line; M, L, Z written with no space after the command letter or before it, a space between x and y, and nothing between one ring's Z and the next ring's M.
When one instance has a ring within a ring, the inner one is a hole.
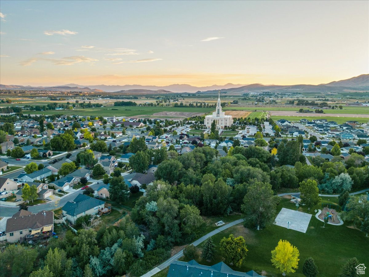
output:
M204 266L195 260L173 261L168 270L167 277L192 277L192 276L211 276L211 277L259 277L254 270L246 273L234 271L227 264L221 261L213 266Z

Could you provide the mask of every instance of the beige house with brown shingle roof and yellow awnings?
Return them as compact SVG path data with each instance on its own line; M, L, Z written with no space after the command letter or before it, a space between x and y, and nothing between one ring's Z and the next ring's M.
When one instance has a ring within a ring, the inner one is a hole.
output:
M35 242L47 239L54 231L54 212L41 211L31 213L20 210L6 221L7 242Z

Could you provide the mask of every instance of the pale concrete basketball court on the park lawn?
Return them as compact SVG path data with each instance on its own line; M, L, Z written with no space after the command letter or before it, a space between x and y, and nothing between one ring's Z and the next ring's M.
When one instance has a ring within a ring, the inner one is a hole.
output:
M275 219L275 225L306 233L311 219L310 213L282 208Z

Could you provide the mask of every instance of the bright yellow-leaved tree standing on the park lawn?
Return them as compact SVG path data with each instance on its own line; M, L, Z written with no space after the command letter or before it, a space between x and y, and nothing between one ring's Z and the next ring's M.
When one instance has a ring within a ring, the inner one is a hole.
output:
M282 271L282 275L295 272L299 264L299 250L287 240L279 240L278 245L272 250L272 264Z

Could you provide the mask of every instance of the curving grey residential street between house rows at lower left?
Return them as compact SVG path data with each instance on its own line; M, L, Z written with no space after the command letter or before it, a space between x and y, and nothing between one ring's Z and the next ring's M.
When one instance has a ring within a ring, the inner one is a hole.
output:
M103 183L101 180L96 181L93 179L90 179L89 182L93 182L93 184L89 185L89 187L93 188L94 190L98 189L99 186ZM99 184L97 184L97 182L99 182ZM73 199L76 198L77 194L81 194L83 193L82 189L76 189L75 192L70 192L69 194L63 196L60 199L59 205L56 208L60 208L62 206L64 206L66 204L66 202L68 201L72 201ZM46 211L50 211L55 209L54 206L54 202L48 202L45 204L41 204L41 205L35 205L35 206L30 206L28 208L28 211L32 212L32 213L37 213L37 212L41 212L43 210ZM0 216L12 216L14 215L14 213L18 212L19 208L18 207L10 207L10 206L0 206Z

